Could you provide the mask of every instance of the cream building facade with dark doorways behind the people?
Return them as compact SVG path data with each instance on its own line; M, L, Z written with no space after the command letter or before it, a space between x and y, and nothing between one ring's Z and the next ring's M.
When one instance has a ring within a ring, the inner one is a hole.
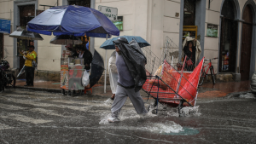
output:
M123 16L120 36L143 37L155 55L162 55L166 36L176 43L177 48L173 49L181 52L183 37L189 34L200 41L201 58L218 57L212 64L219 75L248 80L255 71L254 0L1 0L0 19L11 20L14 32L44 9L67 4L117 8L118 15ZM41 36L44 41L34 41L38 72L60 72L61 50L65 47L50 44L54 36ZM9 34L0 34L0 38L0 56L8 56L6 60L18 71L23 65L19 49L27 43ZM90 51L96 49L104 59L105 49L99 47L105 40L90 37ZM112 52L108 50L107 57Z

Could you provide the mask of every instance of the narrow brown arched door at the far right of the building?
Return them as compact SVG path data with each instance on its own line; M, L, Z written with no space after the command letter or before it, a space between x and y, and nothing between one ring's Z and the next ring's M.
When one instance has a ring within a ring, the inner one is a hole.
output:
M253 37L253 11L247 5L242 14L242 35L241 35L241 65L240 73L241 80L249 80L250 64L251 64L251 49Z

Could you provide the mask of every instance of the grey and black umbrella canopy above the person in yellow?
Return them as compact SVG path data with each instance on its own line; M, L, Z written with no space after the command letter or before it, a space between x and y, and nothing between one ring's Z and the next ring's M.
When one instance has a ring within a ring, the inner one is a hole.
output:
M15 38L26 39L26 40L44 40L44 38L41 37L38 33L29 32L20 27L18 27L15 32L12 32L9 35L9 37L15 37Z

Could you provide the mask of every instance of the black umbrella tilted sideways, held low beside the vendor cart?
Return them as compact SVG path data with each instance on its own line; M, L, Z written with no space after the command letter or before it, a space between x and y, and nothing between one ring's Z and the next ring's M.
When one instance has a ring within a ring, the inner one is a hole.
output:
M93 87L99 79L102 77L104 72L104 61L102 56L95 50L93 59L91 61L91 71L90 71L90 88Z

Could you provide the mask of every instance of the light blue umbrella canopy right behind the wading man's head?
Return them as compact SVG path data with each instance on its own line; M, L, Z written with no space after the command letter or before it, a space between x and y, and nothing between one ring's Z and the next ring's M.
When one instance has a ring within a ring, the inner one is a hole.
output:
M120 37L125 37L128 40L128 42L131 42L132 39L134 38L141 48L150 45L145 39L143 39L143 37L138 37L138 36L120 36ZM103 48L103 49L115 49L113 41L117 40L118 38L119 37L113 37L111 39L108 39L107 41L102 43L101 48Z

